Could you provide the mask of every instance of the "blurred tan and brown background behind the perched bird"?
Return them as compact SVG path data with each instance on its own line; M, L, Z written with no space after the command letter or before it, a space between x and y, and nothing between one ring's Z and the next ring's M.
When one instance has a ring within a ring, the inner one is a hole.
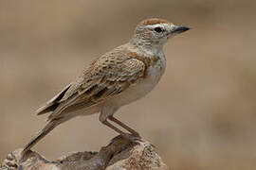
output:
M46 116L46 100L90 60L128 41L142 19L192 29L165 45L155 90L116 114L175 170L256 168L256 1L53 0L0 2L0 160ZM37 144L46 158L99 150L117 135L98 114L73 119Z

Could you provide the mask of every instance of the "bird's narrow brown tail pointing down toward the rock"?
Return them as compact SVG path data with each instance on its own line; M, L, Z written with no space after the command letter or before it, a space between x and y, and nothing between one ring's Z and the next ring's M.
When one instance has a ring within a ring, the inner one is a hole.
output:
M30 142L24 147L22 151L22 155L25 155L27 151L35 144L37 144L42 138L46 136L48 132L50 132L54 127L57 127L58 121L50 121L46 124L46 127L44 127L39 133L30 140Z

